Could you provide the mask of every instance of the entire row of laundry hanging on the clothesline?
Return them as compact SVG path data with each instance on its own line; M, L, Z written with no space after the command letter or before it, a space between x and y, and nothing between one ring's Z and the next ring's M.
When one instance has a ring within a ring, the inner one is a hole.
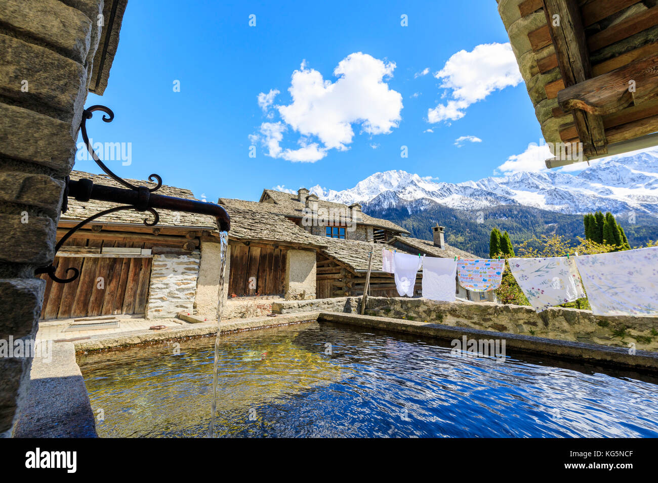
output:
M456 300L457 280L462 287L476 292L498 288L507 260L513 277L538 312L587 297L595 315L658 315L658 246L570 255L501 260L418 254L416 258L382 247L382 271L395 276L401 296L413 296L418 270L423 267L422 295L452 302ZM450 285L452 290L447 290Z

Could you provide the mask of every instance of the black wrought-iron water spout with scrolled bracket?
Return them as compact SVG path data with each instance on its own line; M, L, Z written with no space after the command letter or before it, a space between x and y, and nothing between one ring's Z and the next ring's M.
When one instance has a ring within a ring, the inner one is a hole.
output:
M68 196L71 196L72 198L75 198L78 201L100 200L100 201L118 203L124 206L115 206L114 208L110 208L109 210L104 210L102 212L89 216L89 218L80 221L80 223L72 227L72 229L66 232L66 234L60 239L60 241L57 242L57 245L55 245L56 254L59 251L59 249L63 246L64 242L66 242L73 235L73 233L78 231L80 228L84 227L84 225L97 218L101 218L101 216L109 215L111 213L118 212L121 210L136 210L138 212L149 212L150 214L153 215L154 219L153 221L150 222L148 219L144 219L144 224L147 226L155 226L157 225L157 223L159 223L160 216L156 211L156 208L160 208L163 210L174 210L174 211L182 211L182 212L214 216L217 220L217 226L220 229L220 231L228 231L230 229L230 218L228 216L228 213L226 213L226 210L224 210L222 206L219 206L218 204L214 204L214 203L203 202L203 201L188 200L186 198L176 198L174 196L157 195L154 192L159 190L163 184L162 178L159 175L155 173L149 175L149 181L153 181L154 179L157 180L157 185L153 188L149 188L145 186L135 186L132 183L128 183L128 181L126 181L125 179L122 179L118 175L114 174L112 170L110 170L107 166L105 166L103 161L101 161L101 159L97 156L97 154L93 150L93 147L91 147L91 143L89 143L89 137L87 135L86 122L88 119L91 119L91 116L93 116L92 113L97 110L100 110L105 114L107 114L107 116L103 114L103 121L112 122L112 120L114 119L114 112L112 112L112 110L106 106L94 105L89 108L86 108L82 112L82 122L80 123L80 131L82 132L82 139L84 140L84 143L89 151L89 154L91 154L91 157L96 162L96 164L100 166L101 170L107 173L107 175L112 179L114 179L114 181L116 181L120 185L125 186L126 189L113 187L113 186L95 185L93 181L91 181L91 179L86 179L86 178L78 179L76 181L69 179L69 177L67 176L66 188L64 189L64 200L62 202L62 213L66 213L66 210L68 210ZM67 279L61 279L57 277L57 275L55 275L56 269L57 267L55 267L55 265L50 264L47 267L41 267L36 269L35 273L36 275L39 275L41 273L47 273L48 276L57 283L70 283L80 276L80 270L78 270L75 267L70 267L66 269L66 273L72 271L73 274Z

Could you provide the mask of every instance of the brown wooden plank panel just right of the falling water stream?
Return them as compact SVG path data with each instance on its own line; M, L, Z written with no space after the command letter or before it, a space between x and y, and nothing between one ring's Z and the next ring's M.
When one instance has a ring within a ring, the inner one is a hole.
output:
M229 296L283 296L285 291L286 250L242 243L231 244Z

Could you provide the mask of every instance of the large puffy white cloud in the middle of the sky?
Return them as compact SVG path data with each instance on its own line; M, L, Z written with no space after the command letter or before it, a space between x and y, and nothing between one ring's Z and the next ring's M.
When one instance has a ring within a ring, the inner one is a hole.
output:
M275 106L282 121L261 125L259 139L268 147L268 156L315 162L330 149L347 150L354 137L353 124L359 124L361 131L370 135L390 133L398 126L403 107L401 94L389 89L385 81L393 70L394 62L384 63L357 52L339 62L334 70L338 80L332 83L302 62L299 70L293 72L288 89L292 103ZM267 95L261 93L263 104L273 102L274 92L278 93L276 90ZM288 127L303 136L298 141L300 149L280 147L282 133Z

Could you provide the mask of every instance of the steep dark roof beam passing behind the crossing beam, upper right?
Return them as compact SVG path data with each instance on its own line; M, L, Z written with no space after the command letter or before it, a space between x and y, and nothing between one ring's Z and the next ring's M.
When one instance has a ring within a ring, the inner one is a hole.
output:
M576 0L542 0L542 3L565 86L592 78L578 3ZM601 116L578 109L573 110L573 116L585 156L605 154L607 143Z

